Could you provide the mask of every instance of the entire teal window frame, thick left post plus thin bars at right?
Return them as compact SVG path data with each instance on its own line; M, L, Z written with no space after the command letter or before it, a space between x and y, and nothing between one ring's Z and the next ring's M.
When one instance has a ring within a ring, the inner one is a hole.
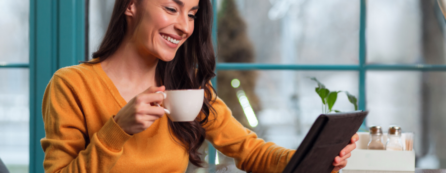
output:
M212 0L216 4L217 0ZM27 63L2 63L3 68L29 68L30 73L30 173L44 173L44 152L40 139L45 137L42 120L42 98L45 88L57 69L75 65L84 60L86 0L30 0L29 41ZM63 11L63 12L62 12ZM217 5L214 5L213 40L217 46ZM367 71L443 71L446 65L428 64L366 64L366 0L360 0L359 63L357 65L300 65L261 63L218 63L216 71L223 70L317 70L359 72L359 109L366 109ZM63 57L63 58L62 58ZM212 80L218 88L216 79ZM365 128L365 122L363 123ZM209 145L210 169L215 169L216 149Z

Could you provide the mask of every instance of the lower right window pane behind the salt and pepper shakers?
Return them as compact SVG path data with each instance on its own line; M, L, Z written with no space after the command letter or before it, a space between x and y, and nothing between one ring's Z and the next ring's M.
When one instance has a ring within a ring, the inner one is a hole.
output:
M446 167L446 73L367 72L367 126L415 132L417 168Z

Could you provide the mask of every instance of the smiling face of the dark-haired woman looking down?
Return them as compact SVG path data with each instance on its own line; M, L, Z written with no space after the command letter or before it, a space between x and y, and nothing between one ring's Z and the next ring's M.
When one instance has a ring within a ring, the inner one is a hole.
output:
M141 54L170 61L194 31L199 0L144 0L132 40Z

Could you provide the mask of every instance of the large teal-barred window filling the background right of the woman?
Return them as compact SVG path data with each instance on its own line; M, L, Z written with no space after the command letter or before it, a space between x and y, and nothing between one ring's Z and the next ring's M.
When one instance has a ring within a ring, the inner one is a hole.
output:
M370 110L364 125L415 132L417 167L445 168L445 73L437 72L446 70L445 19L437 3L219 0L218 10L218 92L259 137L297 148L322 113L307 79L317 77L359 98L359 109ZM237 104L233 79L250 91L256 127ZM343 94L334 108L353 110Z

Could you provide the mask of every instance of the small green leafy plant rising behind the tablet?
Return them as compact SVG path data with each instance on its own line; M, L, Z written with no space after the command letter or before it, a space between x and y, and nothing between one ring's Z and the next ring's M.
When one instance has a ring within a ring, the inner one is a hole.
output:
M347 97L348 101L352 103L355 106L355 111L358 110L358 99L354 95L351 95L347 91L330 91L325 87L324 84L319 82L315 77L309 77L311 80L318 83L318 87L316 87L316 93L318 93L319 97L322 99L322 113L327 114L330 112L340 112L338 110L332 110L333 105L335 105L336 99L337 99L337 93L344 92Z

